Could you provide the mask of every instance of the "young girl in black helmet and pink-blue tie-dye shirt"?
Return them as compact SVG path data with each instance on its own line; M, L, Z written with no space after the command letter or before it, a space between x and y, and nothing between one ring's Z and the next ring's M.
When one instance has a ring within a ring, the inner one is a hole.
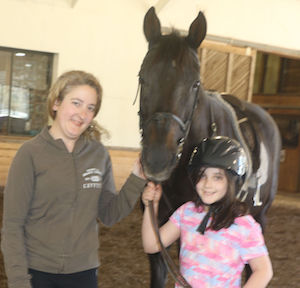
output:
M160 228L160 236L165 247L180 237L180 271L193 288L241 287L246 263L252 274L244 288L266 287L272 277L261 228L248 214L246 204L235 197L246 169L243 149L223 136L204 139L191 156L189 175L195 197L174 212ZM161 193L160 185L149 183L142 196L146 253L160 250L148 201L153 201L157 214Z

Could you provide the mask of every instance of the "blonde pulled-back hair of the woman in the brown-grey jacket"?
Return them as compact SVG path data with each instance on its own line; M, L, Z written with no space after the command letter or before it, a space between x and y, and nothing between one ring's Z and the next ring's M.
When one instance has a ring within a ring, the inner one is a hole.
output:
M65 96L72 91L72 89L82 85L88 85L94 88L96 91L97 103L94 114L94 117L96 117L101 107L102 87L94 75L84 71L73 70L63 73L50 88L47 104L48 115L52 120L54 120L56 117L56 111L53 110L53 105L55 102L57 101L61 103ZM102 133L107 134L107 131L100 127L95 120L93 120L83 135L89 139L100 140Z

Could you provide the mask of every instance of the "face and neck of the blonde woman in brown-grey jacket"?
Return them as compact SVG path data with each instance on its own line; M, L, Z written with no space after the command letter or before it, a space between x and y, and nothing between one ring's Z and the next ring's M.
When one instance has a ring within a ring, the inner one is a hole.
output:
M62 102L54 103L56 117L51 133L64 141L76 141L93 120L96 103L97 93L94 88L88 85L74 87Z

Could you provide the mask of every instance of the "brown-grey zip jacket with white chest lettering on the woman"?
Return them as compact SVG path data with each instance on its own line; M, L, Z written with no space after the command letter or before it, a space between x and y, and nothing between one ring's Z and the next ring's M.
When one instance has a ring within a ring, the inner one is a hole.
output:
M9 288L30 285L28 268L75 273L99 266L98 220L133 209L146 181L131 174L116 192L105 147L81 137L69 153L45 127L18 150L4 190L1 248Z

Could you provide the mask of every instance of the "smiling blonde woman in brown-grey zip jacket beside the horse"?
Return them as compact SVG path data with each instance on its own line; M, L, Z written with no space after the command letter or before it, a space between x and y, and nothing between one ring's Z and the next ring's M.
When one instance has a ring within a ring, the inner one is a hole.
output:
M1 243L9 288L97 288L97 221L111 226L127 216L146 183L137 162L116 192L93 121L101 100L93 75L61 75L48 97L52 125L12 162Z

